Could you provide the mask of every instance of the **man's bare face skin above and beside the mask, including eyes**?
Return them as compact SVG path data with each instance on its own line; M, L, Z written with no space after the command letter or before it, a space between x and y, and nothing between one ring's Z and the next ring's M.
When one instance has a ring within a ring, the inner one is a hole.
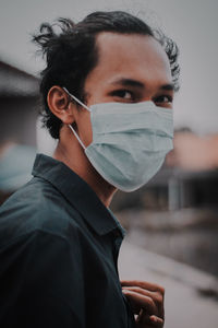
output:
M150 36L100 33L97 36L98 63L84 84L87 106L99 103L152 101L172 108L173 85L169 59ZM85 113L84 113L85 112ZM87 110L81 110L78 133L88 145L92 127Z

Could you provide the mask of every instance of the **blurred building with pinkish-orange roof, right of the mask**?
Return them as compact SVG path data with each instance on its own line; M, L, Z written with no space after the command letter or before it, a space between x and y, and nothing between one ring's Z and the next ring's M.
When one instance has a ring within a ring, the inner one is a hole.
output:
M167 180L170 210L218 207L218 134L175 132L166 167L171 172Z

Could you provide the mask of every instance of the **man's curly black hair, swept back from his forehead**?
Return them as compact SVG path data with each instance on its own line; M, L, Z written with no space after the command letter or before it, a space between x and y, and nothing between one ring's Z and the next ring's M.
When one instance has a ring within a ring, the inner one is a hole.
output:
M60 30L57 33L57 27ZM65 86L85 102L83 86L87 74L98 61L95 43L100 32L148 35L164 47L170 62L174 90L179 90L179 49L175 43L160 31L154 31L138 17L122 11L94 12L74 24L70 19L59 19L56 24L44 23L33 42L46 58L41 71L40 93L43 95L43 122L55 139L59 139L62 122L49 109L47 94L52 85Z

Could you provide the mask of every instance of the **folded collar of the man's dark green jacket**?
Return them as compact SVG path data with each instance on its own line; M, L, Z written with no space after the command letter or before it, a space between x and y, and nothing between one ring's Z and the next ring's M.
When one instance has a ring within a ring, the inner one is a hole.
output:
M32 174L52 184L76 208L98 235L125 231L95 191L65 164L50 156L37 154Z

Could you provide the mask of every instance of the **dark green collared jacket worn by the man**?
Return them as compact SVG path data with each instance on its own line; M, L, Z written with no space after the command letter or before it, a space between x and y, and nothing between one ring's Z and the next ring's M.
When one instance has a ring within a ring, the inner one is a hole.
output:
M33 175L0 209L0 327L134 327L117 219L63 163L37 155Z

